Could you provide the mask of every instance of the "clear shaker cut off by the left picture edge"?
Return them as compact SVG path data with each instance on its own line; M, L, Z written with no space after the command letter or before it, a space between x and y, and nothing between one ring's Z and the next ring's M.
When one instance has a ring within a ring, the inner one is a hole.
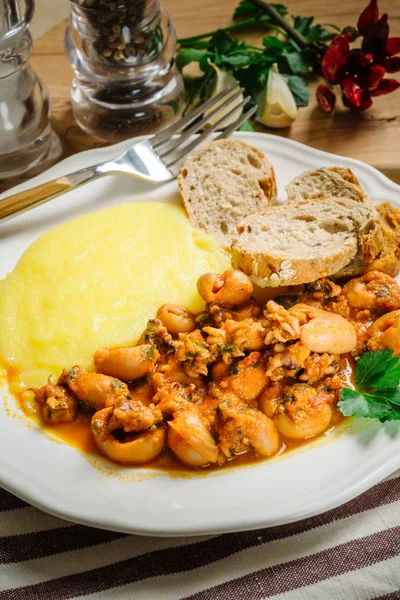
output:
M47 89L28 59L33 0L0 0L0 192L60 160Z

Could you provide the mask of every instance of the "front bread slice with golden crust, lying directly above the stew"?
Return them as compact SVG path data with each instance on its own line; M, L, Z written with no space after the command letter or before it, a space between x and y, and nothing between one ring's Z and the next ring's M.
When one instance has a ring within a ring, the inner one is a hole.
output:
M357 257L371 262L382 244L372 205L310 200L244 219L233 240L232 263L261 287L298 285L334 275Z

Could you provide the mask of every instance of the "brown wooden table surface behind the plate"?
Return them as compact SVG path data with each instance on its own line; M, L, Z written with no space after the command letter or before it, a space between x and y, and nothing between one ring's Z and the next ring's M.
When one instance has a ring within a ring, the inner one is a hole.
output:
M231 22L238 0L163 0L178 37L196 35L223 27ZM313 15L321 23L355 25L366 0L290 0L289 14ZM389 13L390 35L400 36L400 0L380 0L381 13ZM35 41L32 65L47 84L52 100L53 124L61 136L66 155L96 147L98 141L83 133L75 124L69 98L72 70L63 50L65 22ZM252 34L252 43L256 39ZM262 34L260 34L261 39ZM316 85L310 86L313 92ZM341 102L338 102L339 106ZM278 132L315 148L351 156L374 165L400 183L400 91L374 99L364 113L336 109L324 114L314 94L308 107L301 108L293 125Z

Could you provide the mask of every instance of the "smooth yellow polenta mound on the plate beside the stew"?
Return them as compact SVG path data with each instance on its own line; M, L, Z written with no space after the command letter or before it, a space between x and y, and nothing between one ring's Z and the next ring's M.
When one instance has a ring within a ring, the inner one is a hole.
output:
M178 206L134 203L42 235L0 284L0 357L27 386L135 343L164 302L199 311L197 278L227 254Z

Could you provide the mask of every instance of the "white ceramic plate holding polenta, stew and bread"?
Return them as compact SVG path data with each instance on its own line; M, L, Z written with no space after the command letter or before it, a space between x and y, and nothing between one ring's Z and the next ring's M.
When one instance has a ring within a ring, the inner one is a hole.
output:
M239 133L273 163L280 199L305 169L351 167L372 200L400 206L400 186L372 167L281 137ZM28 184L115 156L120 147L72 156ZM44 231L80 214L138 200L179 202L176 183L151 187L106 177L0 225L0 279ZM169 477L150 469L110 466L55 443L0 389L0 485L54 515L106 529L157 536L255 529L296 521L361 494L400 467L399 423L359 419L305 450L207 476Z

